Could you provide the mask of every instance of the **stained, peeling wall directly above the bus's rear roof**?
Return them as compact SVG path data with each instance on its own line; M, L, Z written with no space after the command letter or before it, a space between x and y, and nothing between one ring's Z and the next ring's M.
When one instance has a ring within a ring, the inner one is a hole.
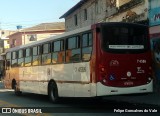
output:
M126 6L124 2L126 1ZM129 0L123 1L123 7L119 7L116 14L106 19L107 22L139 22L148 18L148 0L142 0L129 4ZM122 3L121 3L122 4ZM135 5L134 5L135 4ZM121 8L121 9L120 9Z

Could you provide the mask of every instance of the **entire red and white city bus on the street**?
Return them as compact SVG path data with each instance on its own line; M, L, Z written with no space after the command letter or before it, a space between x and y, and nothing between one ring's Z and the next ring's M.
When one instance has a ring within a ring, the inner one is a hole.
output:
M6 88L59 97L153 91L148 27L98 23L6 52Z

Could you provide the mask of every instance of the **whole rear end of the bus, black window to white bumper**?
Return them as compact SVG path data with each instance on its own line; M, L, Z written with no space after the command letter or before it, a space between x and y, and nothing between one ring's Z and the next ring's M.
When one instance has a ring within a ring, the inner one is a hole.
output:
M132 23L97 24L95 76L97 92L107 94L153 91L148 27Z

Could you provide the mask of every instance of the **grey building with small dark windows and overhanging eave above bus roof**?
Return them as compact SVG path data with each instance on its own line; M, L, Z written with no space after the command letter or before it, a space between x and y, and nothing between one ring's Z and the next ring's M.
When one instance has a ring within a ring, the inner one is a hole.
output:
M60 18L65 18L66 31L105 21L106 16L116 12L115 7L109 7L108 0L81 0ZM107 12L107 7L109 11Z

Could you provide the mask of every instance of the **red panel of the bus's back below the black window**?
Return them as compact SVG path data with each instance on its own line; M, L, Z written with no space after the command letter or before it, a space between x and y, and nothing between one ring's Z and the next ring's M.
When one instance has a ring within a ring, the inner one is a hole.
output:
M150 52L143 54L109 54L101 52L97 58L99 67L97 67L96 73L99 81L107 86L144 85L147 84L148 78L151 77L150 58ZM118 64L111 65L113 60L118 61ZM139 61L146 62L140 63ZM104 68L104 71L102 71L102 68ZM127 76L127 72L130 72L131 76ZM101 81L104 78L106 82Z

